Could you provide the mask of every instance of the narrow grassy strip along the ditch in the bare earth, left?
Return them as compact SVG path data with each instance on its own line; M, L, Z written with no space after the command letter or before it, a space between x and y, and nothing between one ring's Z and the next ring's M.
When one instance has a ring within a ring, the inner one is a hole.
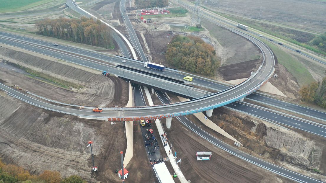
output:
M56 77L49 76L49 75L47 75L45 73L37 72L37 71L35 71L33 69L21 66L19 64L11 63L11 62L8 62L8 63L10 65L13 65L13 66L15 66L17 68L20 68L20 69L24 70L25 72L27 72L28 74L30 74L30 75L28 75L28 77L32 77L32 78L35 78L35 79L38 79L38 80L40 80L39 78L42 78L45 81L48 81L48 83L52 83L52 84L58 85L58 86L60 86L62 88L66 88L66 89L69 89L69 88L80 89L80 88L82 88L81 85L74 84L74 83L71 83L71 82L68 82L68 81L65 81L65 80L62 80L62 79L58 79ZM44 81L44 80L41 80L41 81Z

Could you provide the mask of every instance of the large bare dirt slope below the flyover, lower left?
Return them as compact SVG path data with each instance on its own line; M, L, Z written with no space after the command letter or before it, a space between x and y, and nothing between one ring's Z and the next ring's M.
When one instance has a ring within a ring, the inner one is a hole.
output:
M77 174L89 182L103 175L104 182L119 180L114 171L120 165L118 152L125 151L126 140L118 123L42 110L2 91L0 103L0 157L4 162L18 164L35 174L50 169L63 177ZM89 140L94 142L93 153L100 169L93 175L90 148L86 147Z

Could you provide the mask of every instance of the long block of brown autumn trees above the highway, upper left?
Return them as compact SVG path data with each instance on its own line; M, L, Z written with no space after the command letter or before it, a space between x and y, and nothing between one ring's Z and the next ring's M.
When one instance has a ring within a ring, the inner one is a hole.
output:
M95 21L92 18L44 19L37 21L35 26L41 35L107 49L114 48L110 28L101 21Z

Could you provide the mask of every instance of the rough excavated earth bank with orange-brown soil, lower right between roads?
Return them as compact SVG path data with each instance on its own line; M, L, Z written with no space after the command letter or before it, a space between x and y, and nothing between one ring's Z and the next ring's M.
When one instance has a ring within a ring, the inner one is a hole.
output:
M245 148L269 159L286 162L304 170L325 169L321 157L325 139L313 139L293 131L251 120L225 108L214 110L210 117L219 127L239 140Z

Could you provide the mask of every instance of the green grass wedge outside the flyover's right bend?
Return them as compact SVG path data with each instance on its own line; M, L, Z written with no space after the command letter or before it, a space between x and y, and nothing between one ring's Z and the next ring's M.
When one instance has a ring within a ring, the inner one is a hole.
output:
M295 60L288 53L277 48L276 45L262 40L277 57L278 63L282 64L298 81L300 86L315 82L315 79L312 77L308 69L299 61Z

